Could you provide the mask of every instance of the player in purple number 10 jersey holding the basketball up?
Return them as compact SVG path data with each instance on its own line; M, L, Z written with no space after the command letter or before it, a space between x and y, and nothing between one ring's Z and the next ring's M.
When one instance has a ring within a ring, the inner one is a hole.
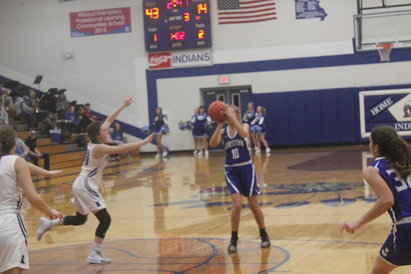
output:
M225 177L230 190L233 209L231 211L231 240L228 251L237 252L238 227L240 224L241 195L248 198L250 209L253 212L261 236L261 247L269 247L270 238L267 234L264 215L258 205L257 194L260 194L255 176L254 165L248 151L249 125L241 124L240 111L237 106L223 105L222 112L227 120L217 123L217 129L210 139L210 147L217 147L222 141L226 150ZM223 129L223 125L228 127Z

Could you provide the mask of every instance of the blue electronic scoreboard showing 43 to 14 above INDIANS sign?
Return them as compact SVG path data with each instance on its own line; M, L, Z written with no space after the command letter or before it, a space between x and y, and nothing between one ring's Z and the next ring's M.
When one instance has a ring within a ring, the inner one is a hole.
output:
M143 0L145 50L211 47L210 0Z

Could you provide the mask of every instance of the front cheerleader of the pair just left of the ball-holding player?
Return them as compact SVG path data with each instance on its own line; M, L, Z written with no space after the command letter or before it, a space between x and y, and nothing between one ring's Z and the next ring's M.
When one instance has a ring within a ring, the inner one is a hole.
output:
M207 131L206 131L206 123L209 122L211 123L211 118L210 116L206 113L206 108L204 106L199 106L198 107L198 113L193 116L193 119L191 122L194 125L193 128L193 135L196 140L196 148L198 145L199 152L198 156L202 156L202 149L204 148L204 155L208 156L209 151L208 151L208 143L207 143Z

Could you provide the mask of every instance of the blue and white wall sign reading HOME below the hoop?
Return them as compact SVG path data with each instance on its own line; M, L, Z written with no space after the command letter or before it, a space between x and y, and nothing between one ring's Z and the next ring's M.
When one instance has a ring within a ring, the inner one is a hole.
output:
M374 126L388 124L401 136L411 136L411 88L370 90L359 93L361 138Z

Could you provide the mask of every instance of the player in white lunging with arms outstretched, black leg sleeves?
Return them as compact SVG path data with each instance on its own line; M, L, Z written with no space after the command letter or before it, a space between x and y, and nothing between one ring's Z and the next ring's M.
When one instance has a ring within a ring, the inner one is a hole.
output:
M106 231L111 223L111 217L107 212L106 204L99 192L99 182L103 175L104 167L107 164L107 155L120 154L136 150L142 145L152 142L154 134L147 136L142 141L133 143L123 143L112 146L105 144L108 138L108 127L114 122L117 115L133 101L132 96L127 96L123 103L111 113L104 122L95 121L87 126L87 134L90 141L84 157L83 166L79 176L72 185L73 198L71 203L76 208L76 216L66 216L63 221L49 221L40 218L40 227L37 231L37 240L40 241L44 232L54 226L61 225L83 225L87 220L87 215L93 213L99 220L94 238L94 247L90 251L87 261L90 263L108 263L111 260L101 253L101 244L104 241Z

